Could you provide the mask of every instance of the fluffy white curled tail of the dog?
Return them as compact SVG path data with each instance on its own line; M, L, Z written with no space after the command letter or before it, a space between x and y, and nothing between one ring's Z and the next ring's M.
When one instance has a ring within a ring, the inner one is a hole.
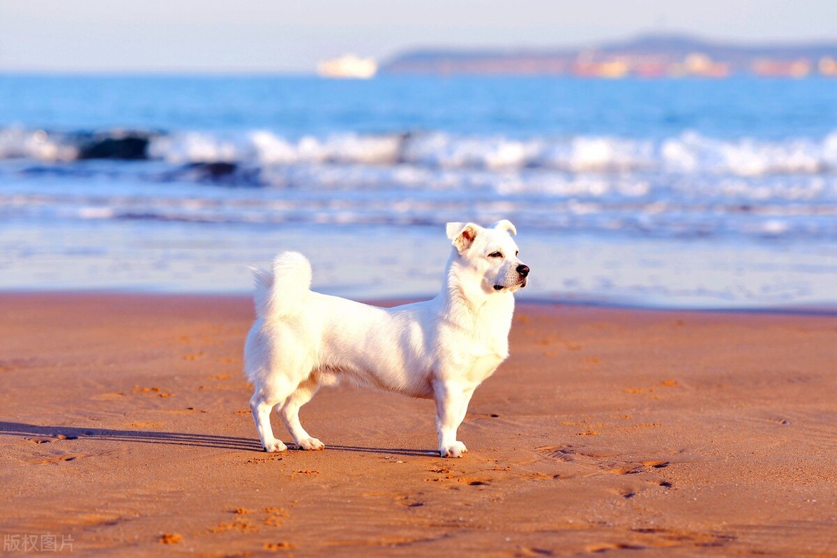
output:
M311 289L311 264L299 252L283 252L273 260L273 269L251 267L256 284L254 296L259 318L295 314Z

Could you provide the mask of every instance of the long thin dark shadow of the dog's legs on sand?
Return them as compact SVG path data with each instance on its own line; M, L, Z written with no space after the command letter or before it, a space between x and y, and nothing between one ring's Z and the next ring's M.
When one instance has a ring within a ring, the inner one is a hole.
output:
M217 436L214 434L154 432L149 430L114 430L111 428L80 428L66 426L37 426L23 422L0 422L0 436L20 436L34 443L59 442L61 440L107 440L111 442L130 443L165 443L176 446L194 446L198 448L234 449L242 452L263 453L259 440L256 438L236 438L234 436ZM295 449L294 444L289 448ZM429 457L438 452L427 449L410 448L362 448L360 446L331 446L326 450L358 453L385 453L388 455L406 455L413 457Z

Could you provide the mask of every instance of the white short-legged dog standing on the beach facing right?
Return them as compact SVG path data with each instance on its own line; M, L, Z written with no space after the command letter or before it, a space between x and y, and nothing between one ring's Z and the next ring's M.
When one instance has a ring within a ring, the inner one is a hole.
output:
M394 308L363 305L311 291L311 264L285 252L272 272L254 269L256 321L244 346L244 372L255 391L250 409L265 451L286 449L274 438L270 411L302 449L323 443L300 424L300 407L322 385L342 377L357 385L433 397L439 453L460 458L456 439L470 397L509 356L512 293L529 268L517 258L505 219L490 228L448 223L453 249L442 292Z

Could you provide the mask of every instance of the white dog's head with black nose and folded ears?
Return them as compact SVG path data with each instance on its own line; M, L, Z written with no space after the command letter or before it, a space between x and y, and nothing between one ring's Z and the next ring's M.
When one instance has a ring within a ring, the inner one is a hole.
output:
M526 286L529 266L518 259L519 250L511 234L517 229L506 219L489 228L475 223L448 223L448 238L454 258L480 278L486 294L514 292Z

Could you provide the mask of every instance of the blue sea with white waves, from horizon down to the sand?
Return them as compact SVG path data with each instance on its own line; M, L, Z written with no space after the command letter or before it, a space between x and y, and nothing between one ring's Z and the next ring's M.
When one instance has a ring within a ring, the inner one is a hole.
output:
M421 297L500 218L523 298L837 308L837 81L0 75L0 289Z

